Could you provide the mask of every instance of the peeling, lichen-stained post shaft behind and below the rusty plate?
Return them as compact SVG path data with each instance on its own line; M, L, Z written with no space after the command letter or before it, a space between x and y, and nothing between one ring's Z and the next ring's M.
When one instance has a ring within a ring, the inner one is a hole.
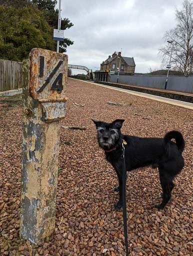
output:
M37 242L55 227L60 121L29 94L29 60L23 61L20 237Z

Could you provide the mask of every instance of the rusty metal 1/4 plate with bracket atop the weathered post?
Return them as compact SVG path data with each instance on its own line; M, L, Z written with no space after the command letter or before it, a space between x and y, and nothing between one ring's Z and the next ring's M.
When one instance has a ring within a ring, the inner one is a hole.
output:
M45 121L65 116L67 55L34 48L29 53L29 94L43 106Z

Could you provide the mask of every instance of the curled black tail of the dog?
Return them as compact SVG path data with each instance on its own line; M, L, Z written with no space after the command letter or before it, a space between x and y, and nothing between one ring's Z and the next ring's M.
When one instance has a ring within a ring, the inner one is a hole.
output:
M171 130L169 132L167 132L164 136L164 144L165 144L165 149L167 151L167 153L169 154L170 152L170 143L169 141L174 138L176 145L180 151L180 153L183 151L184 147L185 147L185 141L183 139L182 134L177 131L177 130Z

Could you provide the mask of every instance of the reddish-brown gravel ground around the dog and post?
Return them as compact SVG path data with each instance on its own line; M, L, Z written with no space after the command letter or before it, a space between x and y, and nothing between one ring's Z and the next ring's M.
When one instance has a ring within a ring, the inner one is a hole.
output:
M0 101L0 255L125 255L122 211L112 210L117 178L97 145L91 118L125 119L122 133L137 136L182 132L185 166L164 210L153 207L160 201L157 169L149 166L128 174L128 244L131 256L193 255L192 110L74 79L68 79L67 97L61 125L84 125L86 130L61 127L55 232L37 245L18 235L21 106L7 108Z

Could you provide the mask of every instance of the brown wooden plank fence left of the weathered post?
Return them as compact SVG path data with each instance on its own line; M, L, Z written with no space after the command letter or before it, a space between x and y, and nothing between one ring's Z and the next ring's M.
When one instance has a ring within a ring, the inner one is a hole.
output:
M0 91L22 88L22 62L0 59Z

